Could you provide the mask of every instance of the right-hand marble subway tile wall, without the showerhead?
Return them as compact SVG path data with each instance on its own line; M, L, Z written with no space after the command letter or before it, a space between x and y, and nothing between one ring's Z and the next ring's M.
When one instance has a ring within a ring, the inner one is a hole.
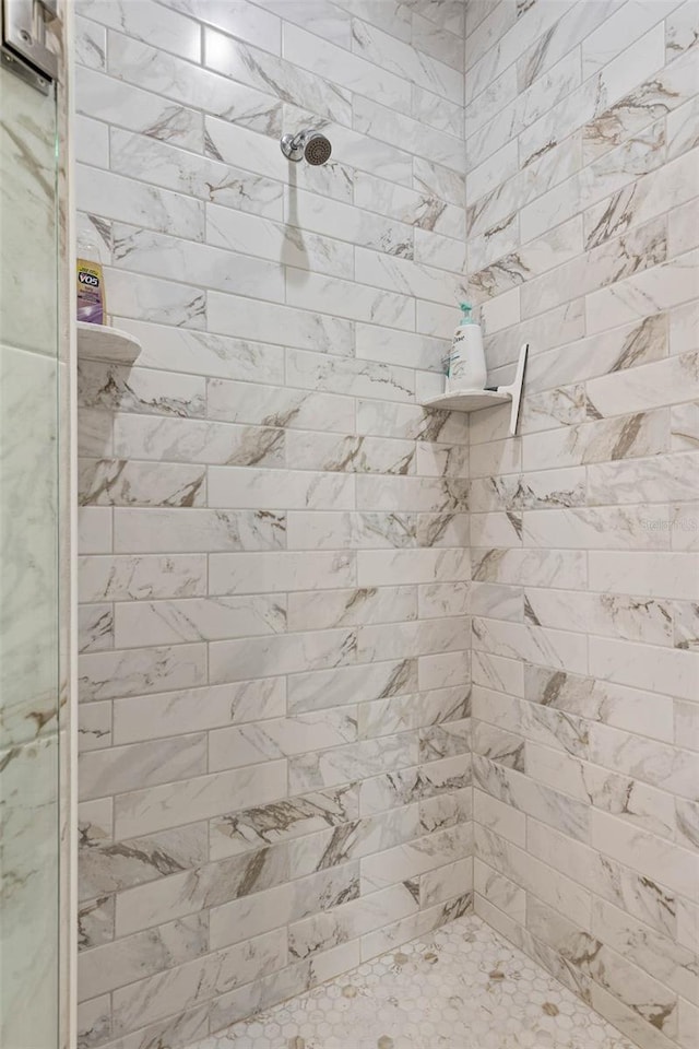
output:
M699 1042L699 5L474 0L476 912L643 1049Z

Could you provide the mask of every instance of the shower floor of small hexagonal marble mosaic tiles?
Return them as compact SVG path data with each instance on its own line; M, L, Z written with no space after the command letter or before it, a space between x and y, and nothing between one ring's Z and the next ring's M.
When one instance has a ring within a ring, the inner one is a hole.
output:
M467 916L191 1049L636 1049Z

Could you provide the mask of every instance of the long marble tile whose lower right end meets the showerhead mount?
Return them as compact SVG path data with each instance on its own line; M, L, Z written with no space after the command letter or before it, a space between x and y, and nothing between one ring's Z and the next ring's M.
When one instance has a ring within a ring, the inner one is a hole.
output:
M263 134L282 130L281 102L272 94L164 54L117 33L108 35L109 72L127 83L166 95L171 102L234 118Z

